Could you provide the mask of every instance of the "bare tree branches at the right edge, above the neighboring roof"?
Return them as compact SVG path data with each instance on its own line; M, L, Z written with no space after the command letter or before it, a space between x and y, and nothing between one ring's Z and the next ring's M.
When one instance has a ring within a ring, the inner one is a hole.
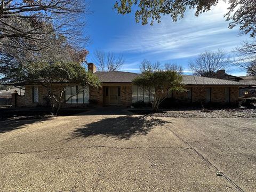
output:
M245 41L236 50L236 59L233 63L242 69L245 69L247 75L256 77L256 41Z

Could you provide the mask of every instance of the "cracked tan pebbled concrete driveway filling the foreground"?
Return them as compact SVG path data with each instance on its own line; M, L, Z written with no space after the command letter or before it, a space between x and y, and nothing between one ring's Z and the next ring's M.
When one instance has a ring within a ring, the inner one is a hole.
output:
M256 191L255 125L85 114L1 122L0 191Z

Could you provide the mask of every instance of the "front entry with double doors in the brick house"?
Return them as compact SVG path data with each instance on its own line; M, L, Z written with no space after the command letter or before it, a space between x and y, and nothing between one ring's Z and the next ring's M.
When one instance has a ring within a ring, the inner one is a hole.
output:
M119 100L119 87L118 86L104 86L103 98L104 105L117 106Z

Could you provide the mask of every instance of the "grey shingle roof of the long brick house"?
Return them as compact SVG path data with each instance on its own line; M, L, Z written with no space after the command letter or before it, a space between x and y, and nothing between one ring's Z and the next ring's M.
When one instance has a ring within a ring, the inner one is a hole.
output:
M110 71L110 72L95 72L102 83L131 83L134 78L141 74ZM186 85L248 85L247 83L235 82L226 79L199 77L193 75L182 75L182 84ZM256 84L256 83L255 83Z

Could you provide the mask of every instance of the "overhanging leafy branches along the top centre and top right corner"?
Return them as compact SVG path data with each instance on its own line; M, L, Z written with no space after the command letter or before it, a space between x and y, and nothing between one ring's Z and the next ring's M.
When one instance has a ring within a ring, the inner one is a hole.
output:
M150 25L154 21L161 22L162 15L170 15L175 22L183 18L187 9L196 9L195 16L209 11L217 5L220 0L119 0L116 1L114 8L118 13L131 13L135 7L136 22L146 25L151 19ZM240 27L243 34L250 33L251 37L256 36L256 2L252 0L227 0L229 3L228 12L225 14L226 20L230 21L229 28Z

